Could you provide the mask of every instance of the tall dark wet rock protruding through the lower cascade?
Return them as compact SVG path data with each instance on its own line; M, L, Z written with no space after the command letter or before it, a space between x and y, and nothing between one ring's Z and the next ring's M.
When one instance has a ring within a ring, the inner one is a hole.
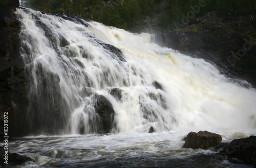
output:
M112 124L115 117L115 111L111 102L102 95L95 95L94 108L96 113L100 117L100 125L102 126L102 133L110 133L112 130ZM101 127L100 126L100 127Z

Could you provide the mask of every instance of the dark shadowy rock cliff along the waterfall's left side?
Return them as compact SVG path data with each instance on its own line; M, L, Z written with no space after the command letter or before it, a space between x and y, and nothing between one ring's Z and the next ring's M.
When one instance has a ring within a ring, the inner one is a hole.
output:
M4 113L8 113L8 135L18 136L20 123L26 116L26 78L24 61L19 53L19 22L15 17L19 1L8 1L0 10L0 125L4 126ZM16 130L15 130L16 129ZM0 134L4 129L0 129ZM1 136L3 137L3 136Z

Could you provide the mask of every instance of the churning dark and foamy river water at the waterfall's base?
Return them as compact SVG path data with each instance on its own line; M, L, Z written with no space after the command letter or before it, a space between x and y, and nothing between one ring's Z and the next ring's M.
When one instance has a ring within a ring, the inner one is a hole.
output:
M223 142L249 135L218 133ZM16 167L253 167L210 150L182 148L186 134L41 135L13 139L10 147L34 160Z

